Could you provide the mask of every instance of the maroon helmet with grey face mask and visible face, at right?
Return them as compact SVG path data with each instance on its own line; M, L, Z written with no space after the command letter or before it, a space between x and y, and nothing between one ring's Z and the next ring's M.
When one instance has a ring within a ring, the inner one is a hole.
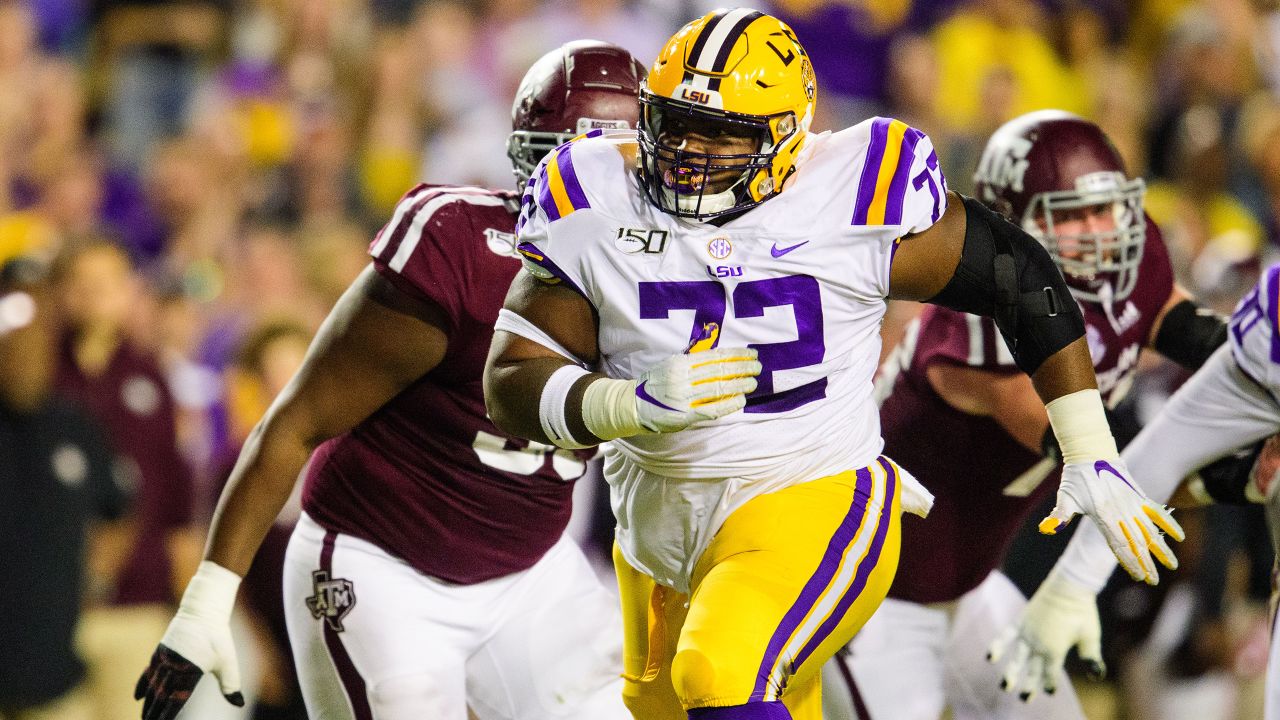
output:
M1062 110L1001 126L974 174L974 195L1038 238L1087 302L1133 292L1147 233L1144 193L1102 128Z

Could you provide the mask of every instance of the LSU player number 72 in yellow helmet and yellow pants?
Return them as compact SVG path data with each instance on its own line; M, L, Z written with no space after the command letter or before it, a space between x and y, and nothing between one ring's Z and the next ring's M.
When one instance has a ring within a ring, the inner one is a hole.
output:
M809 132L815 95L791 28L716 10L659 54L639 136L564 145L525 192L489 414L613 441L625 698L645 720L820 716L819 669L893 578L899 511L929 505L881 455L886 297L1000 318L1066 456L1047 532L1084 512L1135 577L1175 562L1161 529L1181 530L1128 479L1053 260L950 193L920 131Z

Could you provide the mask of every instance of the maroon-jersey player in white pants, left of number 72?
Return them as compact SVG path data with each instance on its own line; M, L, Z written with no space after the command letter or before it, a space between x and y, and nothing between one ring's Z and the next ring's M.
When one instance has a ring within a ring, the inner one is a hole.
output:
M543 56L513 108L516 177L573 135L635 127L643 77L602 42ZM517 193L475 187L401 200L241 454L205 562L138 682L145 719L177 715L206 671L243 702L236 588L308 457L284 601L312 717L626 716L617 610L563 538L590 454L485 416L518 209Z

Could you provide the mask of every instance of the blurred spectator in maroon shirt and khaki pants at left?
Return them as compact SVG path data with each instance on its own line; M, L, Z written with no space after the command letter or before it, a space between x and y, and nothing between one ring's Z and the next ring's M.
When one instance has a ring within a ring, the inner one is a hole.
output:
M128 336L140 293L128 256L91 241L70 249L55 281L67 319L58 387L109 430L118 482L132 493L129 527L110 552L122 559L109 592L84 615L82 641L100 720L134 720L133 684L168 625L175 583L198 561L188 528L191 474L178 455L173 398L156 360Z

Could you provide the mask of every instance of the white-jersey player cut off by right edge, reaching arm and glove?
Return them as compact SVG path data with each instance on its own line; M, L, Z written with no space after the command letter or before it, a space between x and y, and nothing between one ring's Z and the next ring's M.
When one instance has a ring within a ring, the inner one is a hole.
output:
M1179 480L1242 446L1280 433L1280 265L1272 265L1231 315L1226 345L1174 393L1123 454L1133 475L1153 497L1170 497ZM1193 477L1187 483L1199 501L1262 502L1271 543L1280 548L1277 443L1266 445L1248 474ZM1243 482L1240 479L1243 478ZM1216 482L1215 482L1216 480ZM1048 578L1032 596L1018 624L993 646L1007 656L1010 687L1048 689L1066 653L1101 643L1097 593L1115 569L1106 542L1080 528ZM1272 573L1272 611L1280 594ZM1271 624L1266 720L1280 720L1280 625Z

